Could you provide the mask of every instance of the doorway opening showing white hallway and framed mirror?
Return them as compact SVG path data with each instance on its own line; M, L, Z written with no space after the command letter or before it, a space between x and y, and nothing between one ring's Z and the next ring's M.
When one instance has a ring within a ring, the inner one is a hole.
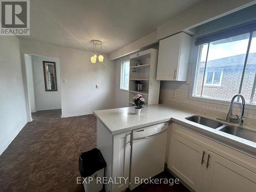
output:
M30 112L61 109L59 58L25 54Z

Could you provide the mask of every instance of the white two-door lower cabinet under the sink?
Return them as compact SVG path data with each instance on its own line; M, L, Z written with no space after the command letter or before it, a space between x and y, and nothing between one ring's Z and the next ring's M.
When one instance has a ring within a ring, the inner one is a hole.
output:
M176 133L182 133L181 127L175 123L173 126ZM190 137L188 130L184 131L184 137L176 133L172 132L170 137L167 167L189 187L207 192L246 192L256 189L256 173L211 152L199 145L197 139L185 138Z

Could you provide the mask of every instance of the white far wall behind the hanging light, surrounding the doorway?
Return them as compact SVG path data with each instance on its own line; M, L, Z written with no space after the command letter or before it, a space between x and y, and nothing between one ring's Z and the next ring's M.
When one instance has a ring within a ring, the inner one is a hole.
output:
M103 63L93 65L91 52L36 41L20 40L22 55L33 54L59 58L62 117L84 115L114 107L115 64L104 55ZM23 66L24 57L22 58ZM63 83L63 80L66 83ZM27 79L24 79L27 84ZM99 84L99 89L95 88ZM26 94L27 88L25 88ZM27 96L27 95L26 95ZM26 100L29 109L29 101Z

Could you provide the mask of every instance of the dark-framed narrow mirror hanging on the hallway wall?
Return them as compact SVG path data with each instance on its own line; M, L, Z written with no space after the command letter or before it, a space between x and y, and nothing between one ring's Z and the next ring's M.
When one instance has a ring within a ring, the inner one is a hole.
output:
M42 61L42 65L44 67L46 91L57 91L56 63Z

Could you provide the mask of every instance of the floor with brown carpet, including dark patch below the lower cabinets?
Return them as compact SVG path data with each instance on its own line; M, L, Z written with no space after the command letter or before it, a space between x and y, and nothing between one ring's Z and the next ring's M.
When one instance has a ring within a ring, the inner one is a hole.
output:
M96 118L60 118L60 110L32 114L0 156L0 191L81 191L78 156L96 147ZM174 178L163 172L156 178ZM129 191L129 190L128 190ZM188 191L182 184L142 184L133 191Z

